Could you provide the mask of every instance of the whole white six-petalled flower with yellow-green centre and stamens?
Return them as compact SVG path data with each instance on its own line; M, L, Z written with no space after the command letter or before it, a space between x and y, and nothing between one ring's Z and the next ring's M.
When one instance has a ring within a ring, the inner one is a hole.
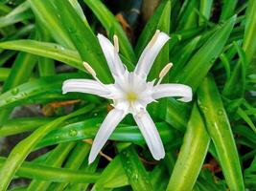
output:
M92 79L69 79L64 81L63 94L68 92L80 92L103 96L113 100L114 109L105 117L96 137L94 138L89 155L91 163L105 145L118 123L129 113L133 115L143 137L151 150L154 159L163 159L165 151L157 129L146 110L146 107L155 99L167 96L179 96L179 100L187 102L192 99L192 90L189 86L182 84L160 84L162 78L172 67L169 63L159 74L159 80L147 82L147 75L150 73L152 63L160 52L164 44L170 37L164 33L156 31L150 43L141 54L138 64L133 72L128 72L122 63L118 52L118 38L114 35L114 46L105 38L98 34L98 39L102 47L108 67L114 77L114 84L103 84L96 76L91 66L83 62L85 69L92 74Z

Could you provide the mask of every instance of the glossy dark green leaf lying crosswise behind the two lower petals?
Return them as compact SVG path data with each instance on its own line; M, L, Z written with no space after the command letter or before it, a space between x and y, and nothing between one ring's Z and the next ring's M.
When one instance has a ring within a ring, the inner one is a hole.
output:
M94 138L103 120L102 117L88 118L68 124L61 129L49 133L37 144L36 148L42 148L65 141ZM156 123L156 126L164 142L172 141L174 138L173 130L170 129L166 123L159 122ZM126 124L119 125L109 139L134 142L140 145L145 144L145 139L142 137L138 127Z

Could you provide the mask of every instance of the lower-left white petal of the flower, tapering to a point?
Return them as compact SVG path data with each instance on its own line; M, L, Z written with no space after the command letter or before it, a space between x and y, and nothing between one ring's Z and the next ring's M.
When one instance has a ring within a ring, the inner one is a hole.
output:
M93 140L92 148L89 155L89 163L96 159L98 153L105 145L106 140L110 137L118 123L126 116L125 112L118 109L111 110L105 117L100 130Z

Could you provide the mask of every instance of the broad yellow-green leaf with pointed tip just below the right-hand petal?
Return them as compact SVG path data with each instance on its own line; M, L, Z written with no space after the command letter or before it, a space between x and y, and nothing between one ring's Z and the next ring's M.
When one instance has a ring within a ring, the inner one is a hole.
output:
M188 122L183 144L167 190L192 190L198 179L203 161L206 157L210 138L195 104Z

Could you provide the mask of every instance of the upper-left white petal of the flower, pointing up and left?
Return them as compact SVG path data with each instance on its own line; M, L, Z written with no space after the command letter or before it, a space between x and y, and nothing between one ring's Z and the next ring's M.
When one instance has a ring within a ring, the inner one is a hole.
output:
M112 74L121 75L125 73L125 67L119 57L119 54L115 51L112 43L103 35L97 35L102 50L105 54L105 60Z

